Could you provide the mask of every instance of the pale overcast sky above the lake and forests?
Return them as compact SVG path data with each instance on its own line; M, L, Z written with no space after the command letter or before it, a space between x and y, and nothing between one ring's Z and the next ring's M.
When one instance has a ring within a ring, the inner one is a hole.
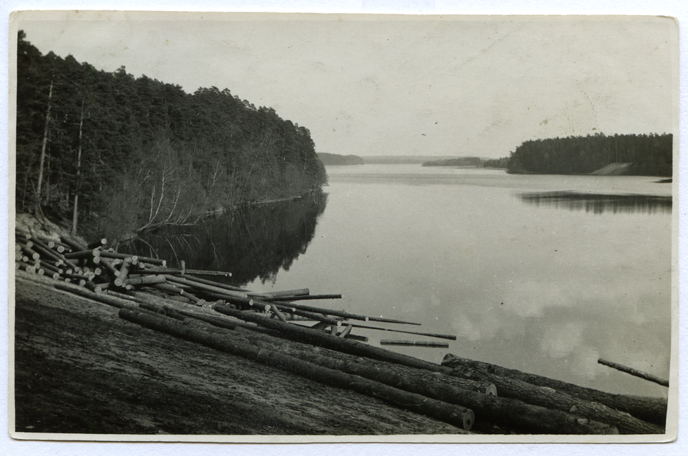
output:
M319 152L496 158L527 139L673 126L672 19L162 17L65 13L19 29L43 54L228 88L309 128Z

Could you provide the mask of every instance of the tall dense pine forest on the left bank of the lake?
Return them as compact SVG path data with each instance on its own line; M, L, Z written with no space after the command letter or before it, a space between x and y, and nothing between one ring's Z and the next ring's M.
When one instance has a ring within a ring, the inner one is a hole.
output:
M271 108L43 56L19 32L18 210L116 239L326 180L308 128Z

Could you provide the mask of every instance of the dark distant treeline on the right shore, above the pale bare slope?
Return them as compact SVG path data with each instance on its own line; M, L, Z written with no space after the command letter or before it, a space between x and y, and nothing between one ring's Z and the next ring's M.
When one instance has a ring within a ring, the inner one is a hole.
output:
M525 141L511 153L508 172L588 174L610 163L632 163L627 174L670 177L672 141L671 134L602 133Z

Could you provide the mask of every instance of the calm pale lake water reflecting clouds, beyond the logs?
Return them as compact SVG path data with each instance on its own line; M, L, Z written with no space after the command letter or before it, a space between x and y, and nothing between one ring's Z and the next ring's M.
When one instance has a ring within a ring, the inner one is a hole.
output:
M187 268L233 271L252 290L341 293L308 304L422 326L363 324L457 336L449 349L389 347L428 361L451 352L666 396L597 359L669 377L671 184L420 165L327 173L325 195L206 220L202 240L186 238L178 255ZM373 345L444 341L353 332Z

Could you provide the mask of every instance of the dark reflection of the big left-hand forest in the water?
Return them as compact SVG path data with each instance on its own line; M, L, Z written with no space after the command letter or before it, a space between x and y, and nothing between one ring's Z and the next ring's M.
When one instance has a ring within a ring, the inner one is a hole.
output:
M288 271L305 253L325 205L327 194L315 192L297 200L244 207L193 227L149 234L122 250L158 255L171 267L184 260L186 269L227 271L232 273L225 281L230 284L243 285L257 277L274 281L280 269Z

